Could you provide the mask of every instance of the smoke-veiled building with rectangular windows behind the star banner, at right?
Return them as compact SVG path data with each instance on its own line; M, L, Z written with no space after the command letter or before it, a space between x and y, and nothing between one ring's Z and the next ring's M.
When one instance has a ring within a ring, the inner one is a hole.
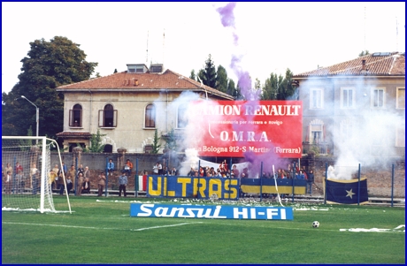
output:
M372 53L293 79L303 101L303 153L405 156L404 53Z

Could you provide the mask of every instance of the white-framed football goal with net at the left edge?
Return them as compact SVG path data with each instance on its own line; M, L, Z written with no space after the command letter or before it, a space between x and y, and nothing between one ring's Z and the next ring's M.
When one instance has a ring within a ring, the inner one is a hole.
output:
M46 137L2 136L2 210L57 212L52 198L52 189L58 187L57 174L51 171L51 146L58 148L58 143ZM61 167L59 148L58 164ZM64 174L61 178L65 183ZM67 194L66 199L71 212Z

